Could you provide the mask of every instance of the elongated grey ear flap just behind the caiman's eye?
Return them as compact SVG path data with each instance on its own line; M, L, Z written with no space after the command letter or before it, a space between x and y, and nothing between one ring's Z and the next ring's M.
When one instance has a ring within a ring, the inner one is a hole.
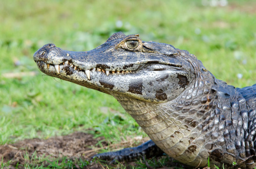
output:
M178 51L173 45L166 43L157 43L157 42L143 42L143 46L152 51L156 51L163 55L176 55Z

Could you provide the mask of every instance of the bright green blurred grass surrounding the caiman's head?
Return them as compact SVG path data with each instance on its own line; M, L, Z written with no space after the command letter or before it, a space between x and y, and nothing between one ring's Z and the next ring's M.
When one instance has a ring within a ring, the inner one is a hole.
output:
M118 31L140 34L144 41L188 50L230 85L255 84L252 7L254 1L238 0L227 7L205 7L199 0L0 1L0 144L89 128L111 142L146 136L112 96L40 73L32 56L50 42L66 50L87 51ZM116 26L118 20L121 27ZM28 71L37 75L2 76Z

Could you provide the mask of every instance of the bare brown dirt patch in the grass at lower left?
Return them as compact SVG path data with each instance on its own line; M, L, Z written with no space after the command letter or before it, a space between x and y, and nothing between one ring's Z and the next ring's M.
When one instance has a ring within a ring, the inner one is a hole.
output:
M93 135L83 132L56 136L47 140L39 138L25 139L13 144L0 146L0 159L3 159L4 163L11 160L8 166L10 168L16 167L17 164L22 166L28 163L29 159L32 159L35 155L35 152L38 158L49 157L50 159L56 159L67 157L70 159L81 158L83 160L91 160L90 157L97 153L92 150L92 147L97 149L95 145L102 139L102 137L95 139ZM105 141L102 141L101 144L102 146L107 146ZM94 164L91 167L97 168L97 165Z

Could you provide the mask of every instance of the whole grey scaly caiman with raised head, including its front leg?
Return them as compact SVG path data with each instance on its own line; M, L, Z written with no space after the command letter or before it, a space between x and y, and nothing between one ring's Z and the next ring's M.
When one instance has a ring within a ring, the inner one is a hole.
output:
M194 167L208 158L217 166L256 166L256 84L227 85L195 55L121 32L87 52L46 44L33 58L49 76L113 95L152 139L96 157L164 152Z

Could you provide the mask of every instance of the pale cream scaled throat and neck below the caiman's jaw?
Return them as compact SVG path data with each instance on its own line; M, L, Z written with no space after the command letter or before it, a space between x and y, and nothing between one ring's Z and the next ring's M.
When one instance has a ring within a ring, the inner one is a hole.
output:
M202 123L208 117L208 111L212 109L215 99L211 92L214 77L210 73L205 75L208 77L200 76L195 79L176 99L165 103L144 102L122 94L112 95L158 147L169 156L189 164L197 159L185 158L184 151L189 150L191 142L197 143L198 149L194 153L198 154L201 150L204 142L204 138L200 136ZM184 142L182 144L185 147L177 152L175 147L179 142ZM202 154L206 157L209 155L206 151ZM202 165L206 163L207 161L201 162Z

